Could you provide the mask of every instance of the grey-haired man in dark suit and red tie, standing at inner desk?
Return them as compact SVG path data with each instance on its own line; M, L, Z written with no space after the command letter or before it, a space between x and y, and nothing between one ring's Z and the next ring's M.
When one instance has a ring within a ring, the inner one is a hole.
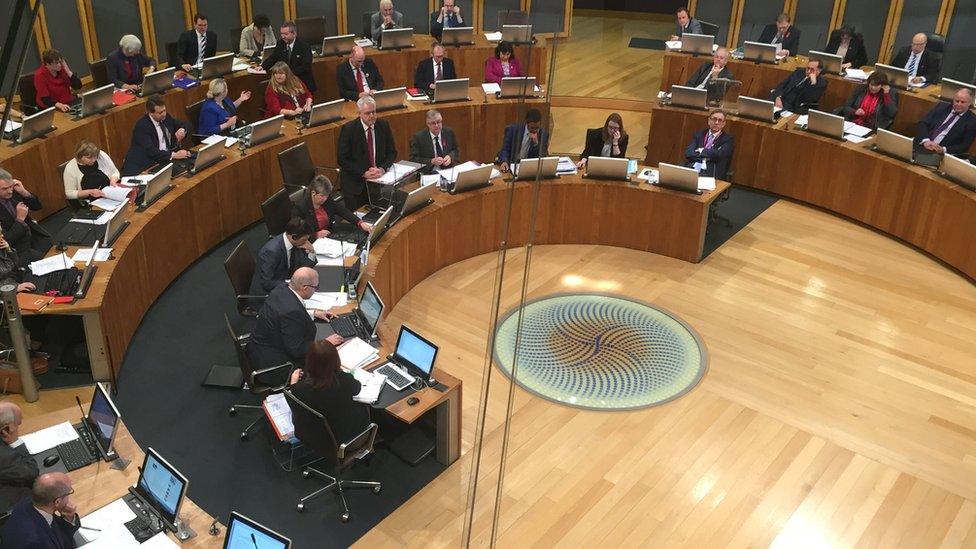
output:
M369 202L366 180L381 177L396 161L396 143L386 120L376 117L376 101L369 95L356 102L359 118L339 130L337 158L339 187L346 207L356 211Z

